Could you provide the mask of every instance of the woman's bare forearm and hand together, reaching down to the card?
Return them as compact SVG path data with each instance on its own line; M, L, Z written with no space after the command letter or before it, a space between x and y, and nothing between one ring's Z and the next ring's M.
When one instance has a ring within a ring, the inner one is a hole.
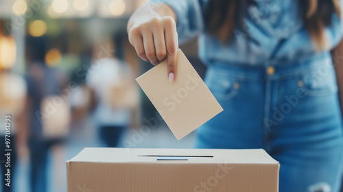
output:
M147 3L132 14L127 29L129 41L141 59L158 64L167 58L167 75L173 82L178 49L174 10L163 3Z

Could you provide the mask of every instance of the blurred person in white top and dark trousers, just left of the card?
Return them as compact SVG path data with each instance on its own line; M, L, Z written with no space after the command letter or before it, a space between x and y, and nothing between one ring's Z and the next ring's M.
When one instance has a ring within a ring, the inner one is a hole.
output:
M86 84L91 88L99 138L106 147L117 147L121 136L130 126L132 108L137 105L135 97L138 94L129 65L115 58L112 40L105 42L94 47Z

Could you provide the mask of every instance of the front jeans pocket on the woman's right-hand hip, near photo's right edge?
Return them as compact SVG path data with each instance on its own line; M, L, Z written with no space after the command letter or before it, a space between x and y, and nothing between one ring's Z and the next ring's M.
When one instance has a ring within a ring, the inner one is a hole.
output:
M307 95L313 97L332 95L338 92L335 71L327 69L326 72L311 71L300 77L300 86L305 88Z

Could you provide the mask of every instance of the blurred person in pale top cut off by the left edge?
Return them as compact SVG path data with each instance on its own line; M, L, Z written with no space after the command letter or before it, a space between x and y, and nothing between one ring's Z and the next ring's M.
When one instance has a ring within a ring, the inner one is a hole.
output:
M1 25L1 23L0 23ZM1 29L0 29L1 31ZM12 37L5 37L0 35L0 163L2 176L2 191L13 191L13 186L16 183L16 157L25 158L27 156L27 146L25 141L25 129L21 123L21 111L23 111L26 97L26 84L23 77L11 73L14 60L8 62L10 57L15 58L15 47L8 45L8 43L15 45ZM4 45L5 44L5 45ZM6 50L3 50L5 47ZM13 47L13 49L11 48ZM10 50L12 49L12 50ZM3 57L3 52L6 52L6 58ZM8 54L8 53L13 54ZM8 117L8 118L6 118ZM9 120L9 121L8 121ZM5 123L10 125L10 129L6 129ZM8 134L7 134L7 133ZM8 136L5 136L8 135ZM5 144L5 139L9 141L8 146ZM5 156L5 149L12 149L10 156ZM9 164L8 158L10 159ZM5 184L7 176L9 175L7 169L10 169L10 187Z

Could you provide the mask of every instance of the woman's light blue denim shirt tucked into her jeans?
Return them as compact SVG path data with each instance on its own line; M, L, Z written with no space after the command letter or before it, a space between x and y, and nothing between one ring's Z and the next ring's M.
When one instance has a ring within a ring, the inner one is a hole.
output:
M167 3L176 12L180 43L199 36L199 56L202 62L225 62L248 65L292 63L316 54L316 47L298 16L296 0L255 0L244 18L247 32L235 29L228 44L204 33L202 10L208 0L152 0ZM327 50L340 42L341 20L332 17L325 30ZM248 38L249 36L249 38Z

